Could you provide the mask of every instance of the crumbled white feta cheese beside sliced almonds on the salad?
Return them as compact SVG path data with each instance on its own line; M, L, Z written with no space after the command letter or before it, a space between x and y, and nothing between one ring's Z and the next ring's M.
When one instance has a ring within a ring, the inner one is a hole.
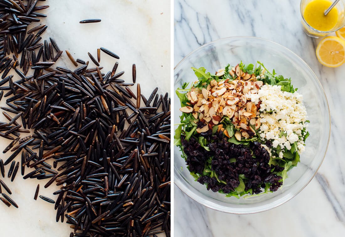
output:
M264 85L251 101L260 104L259 134L261 139L272 140L274 148L290 150L297 142L298 152L304 151L302 130L306 127L307 112L303 106L303 96L281 90L281 86ZM283 157L283 153L279 153Z

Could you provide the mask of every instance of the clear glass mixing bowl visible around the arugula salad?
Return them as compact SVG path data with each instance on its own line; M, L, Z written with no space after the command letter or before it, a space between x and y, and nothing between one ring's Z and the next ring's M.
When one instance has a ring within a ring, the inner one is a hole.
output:
M331 118L325 92L311 68L295 53L272 41L254 37L230 37L210 42L191 52L174 69L175 90L184 82L197 80L191 67L205 67L214 73L225 65L236 65L240 61L261 61L268 70L278 75L291 77L292 83L304 97L310 124L310 136L300 163L288 171L288 178L278 191L256 197L237 199L207 190L189 174L181 152L174 147L175 184L189 197L200 204L219 211L235 214L257 213L277 207L293 198L314 177L320 167L328 146ZM174 123L178 123L181 112L178 97L174 96ZM176 126L177 127L177 126ZM176 128L175 127L175 128Z

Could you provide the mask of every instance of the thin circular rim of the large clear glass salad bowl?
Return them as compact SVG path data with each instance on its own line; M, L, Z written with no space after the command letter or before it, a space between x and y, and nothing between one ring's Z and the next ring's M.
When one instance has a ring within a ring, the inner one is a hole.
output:
M315 177L317 171L319 170L320 166L322 165L322 162L323 160L325 159L325 156L326 156L326 153L327 153L327 149L328 149L328 145L329 145L329 139L331 137L331 112L329 110L329 105L328 105L328 100L327 100L327 96L326 96L326 93L325 93L325 90L320 82L320 80L318 79L318 77L316 76L315 72L311 69L311 67L309 67L309 65L301 58L299 57L296 53L294 53L292 50L276 43L276 42L273 42L271 40L267 40L267 39L264 39L264 38L259 38L259 37L253 37L253 36L231 36L231 37L226 37L226 38L221 38L221 39L218 39L218 40L214 40L214 41L211 41L211 42L208 42L206 43L205 45L202 45L200 47L198 47L197 49L191 51L188 55L186 55L182 60L180 60L176 66L174 67L174 76L175 76L175 70L176 68L182 63L184 62L190 55L192 55L193 53L195 53L196 51L199 51L200 49L203 49L203 48L206 48L207 46L213 44L213 43L216 43L216 42L219 42L219 41L225 41L225 40L235 40L235 39L247 39L247 40L258 40L258 41L264 41L264 42L268 42L268 43L271 43L271 44L274 44L278 47L281 47L283 48L284 50L287 50L290 54L292 54L293 56L297 57L297 59L299 59L302 63L304 63L304 66L306 67L306 69L308 69L309 71L312 72L312 76L314 76L316 78L316 82L318 83L319 87L321 88L322 92L323 92L323 95L324 95L324 98L325 98L325 101L326 101L326 105L327 105L327 109L328 109L328 119L329 119L329 132L328 132L328 138L327 138L327 144L326 144L326 149L324 151L324 154L323 154L323 157L321 159L321 161L319 162L317 168L315 169L314 171L314 174L309 178L309 180L302 186L300 187L294 194L288 196L287 198L285 198L285 200L283 200L283 202L279 203L278 201L276 201L276 203L272 206L268 206L268 208L265 208L265 209L259 209L258 207L254 208L253 211L247 211L247 212L240 212L238 210L240 210L239 208L235 209L235 208L228 208L227 210L224 210L224 209L219 209L219 208L216 208L216 207L210 207L210 206L206 206L206 204L202 203L202 200L203 198L199 198L197 197L196 195L194 195L194 192L191 191L185 184L183 184L182 182L178 182L176 181L176 179L174 178L174 184L176 184L176 186L184 193L186 194L188 197L190 197L191 199L193 199L194 201L197 201L199 204L207 207L207 208L210 208L210 209L213 209L213 210L216 210L216 211L221 211L221 212L224 212L224 213L230 213L230 214L254 214L254 213L260 213L260 212L263 212L263 211L267 211L267 210L271 210L273 208L276 208L280 205L283 205L284 203L286 203L287 201L291 200L292 198L294 198L297 194L299 194L300 191L302 191L309 183L310 181ZM176 81L174 79L174 85L175 85ZM174 149L175 149L175 146L174 146ZM176 171L176 168L174 166L174 177L175 177L175 171ZM280 200L280 199L278 199ZM220 206L220 205L217 205L217 206ZM229 210L230 209L230 210ZM259 210L258 210L259 209Z

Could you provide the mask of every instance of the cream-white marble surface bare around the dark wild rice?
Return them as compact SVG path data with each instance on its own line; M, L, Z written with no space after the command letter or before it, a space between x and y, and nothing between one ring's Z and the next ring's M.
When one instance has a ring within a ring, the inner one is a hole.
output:
M68 49L75 58L89 60L87 52L97 57L97 48L108 48L120 56L118 71L125 70L122 77L132 81L132 63L136 63L137 82L147 97L154 87L160 92L170 91L170 3L168 1L129 1L129 0L47 0L39 4L48 4L50 8L43 13L48 17L43 23L48 25L42 38L55 38L61 50ZM100 18L100 23L80 24L80 20ZM116 60L101 53L101 66L111 70ZM57 65L72 67L65 52ZM93 63L90 63L93 67ZM2 99L1 106L5 105ZM6 121L2 113L1 121ZM9 141L0 139L2 151ZM11 152L0 155L6 160ZM16 158L20 161L20 158ZM6 166L6 175L9 165ZM26 171L26 174L28 170ZM2 177L1 177L2 178ZM0 236L9 237L67 237L71 231L69 225L56 223L54 205L40 198L33 200L38 180L23 180L18 171L11 182L3 179L12 190L11 198L19 208L8 208L0 203ZM48 180L39 182L40 194L56 199L52 192L58 188L43 186ZM66 220L66 218L65 218Z

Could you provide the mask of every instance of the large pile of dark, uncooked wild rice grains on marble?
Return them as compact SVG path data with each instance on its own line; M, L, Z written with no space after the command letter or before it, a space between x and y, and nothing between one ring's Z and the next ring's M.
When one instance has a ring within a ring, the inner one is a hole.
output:
M168 93L158 95L156 88L146 99L139 84L134 93L135 65L133 83L120 79L118 62L102 73L100 51L119 58L105 48L97 50L97 60L88 53L96 67L66 51L78 68L53 68L62 51L52 38L40 43L47 26L28 30L46 17L37 11L48 6L38 2L0 0L0 97L8 105L1 107L8 121L0 122L0 136L12 140L3 152L13 152L0 161L2 176L12 162L12 181L20 166L24 179L61 187L56 201L39 197L55 203L56 221L66 218L71 236L170 236ZM26 129L33 135L21 137ZM34 199L38 194L39 186Z

